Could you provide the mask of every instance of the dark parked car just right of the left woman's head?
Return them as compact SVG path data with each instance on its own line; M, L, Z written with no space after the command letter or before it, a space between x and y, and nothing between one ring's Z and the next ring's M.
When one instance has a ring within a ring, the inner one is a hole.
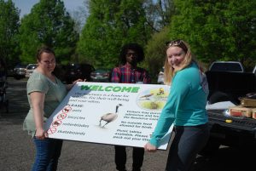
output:
M81 78L90 82L90 72L95 71L95 68L89 64L69 64L64 66L64 82L73 83L73 81Z

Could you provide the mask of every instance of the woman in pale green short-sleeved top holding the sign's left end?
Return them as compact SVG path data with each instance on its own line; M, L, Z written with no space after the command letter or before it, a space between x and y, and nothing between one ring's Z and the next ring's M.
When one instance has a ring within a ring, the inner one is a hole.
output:
M37 60L38 67L26 84L30 110L23 123L23 129L32 135L36 145L37 154L32 170L54 171L57 170L61 156L62 140L49 139L47 130L44 130L44 123L66 96L67 90L82 80L68 85L61 83L52 73L55 70L55 53L50 48L40 48Z

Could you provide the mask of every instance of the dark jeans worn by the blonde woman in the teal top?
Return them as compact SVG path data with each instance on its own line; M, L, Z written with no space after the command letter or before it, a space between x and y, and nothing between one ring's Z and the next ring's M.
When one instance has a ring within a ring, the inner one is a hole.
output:
M170 147L166 171L188 171L199 151L209 138L208 124L175 126L175 137Z

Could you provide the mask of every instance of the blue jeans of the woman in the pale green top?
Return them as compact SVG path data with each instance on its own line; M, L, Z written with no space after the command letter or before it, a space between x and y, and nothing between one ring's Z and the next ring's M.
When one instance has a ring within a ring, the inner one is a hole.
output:
M32 171L55 171L61 156L62 140L33 138L36 145L36 159Z

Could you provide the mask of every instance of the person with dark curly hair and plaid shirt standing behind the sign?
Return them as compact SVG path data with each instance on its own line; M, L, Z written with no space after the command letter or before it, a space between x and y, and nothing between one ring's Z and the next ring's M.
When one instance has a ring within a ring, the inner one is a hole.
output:
M112 83L151 83L148 71L137 67L137 63L144 60L143 48L137 43L128 43L121 49L119 60L121 66L113 68ZM115 164L119 171L126 171L125 146L115 145ZM132 171L140 171L143 166L144 149L133 147Z

